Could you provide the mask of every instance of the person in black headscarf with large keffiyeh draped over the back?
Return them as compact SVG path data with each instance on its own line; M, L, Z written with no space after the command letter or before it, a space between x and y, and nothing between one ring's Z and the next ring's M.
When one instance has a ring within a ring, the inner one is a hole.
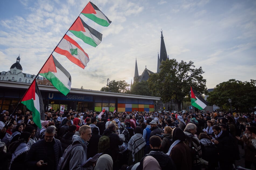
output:
M146 142L141 134L141 128L137 126L135 127L135 135L128 142L128 150L130 151L128 165L135 164L142 159L145 145Z

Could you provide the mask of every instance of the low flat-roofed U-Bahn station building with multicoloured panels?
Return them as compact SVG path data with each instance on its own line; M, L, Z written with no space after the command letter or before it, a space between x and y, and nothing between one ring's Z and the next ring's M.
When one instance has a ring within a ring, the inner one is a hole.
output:
M25 94L30 83L12 82L0 80L0 107L2 110L15 109L20 99ZM95 90L84 90L71 88L70 92L65 96L60 93L54 86L38 85L41 96L44 102L45 110L48 106L52 108L60 108L65 106L66 110L72 109L79 112L85 110L93 110L100 112L104 108L113 112L132 112L137 110L139 112L153 112L155 110L156 101L159 97L112 93ZM22 104L19 105L20 109Z

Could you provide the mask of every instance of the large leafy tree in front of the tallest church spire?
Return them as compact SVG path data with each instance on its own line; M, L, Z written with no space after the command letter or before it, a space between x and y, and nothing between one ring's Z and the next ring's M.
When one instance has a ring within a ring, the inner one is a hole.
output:
M173 99L180 111L184 98L189 96L190 86L201 94L207 91L202 67L195 68L193 64L192 61L179 63L176 59L162 61L160 73L149 75L149 89L164 103Z

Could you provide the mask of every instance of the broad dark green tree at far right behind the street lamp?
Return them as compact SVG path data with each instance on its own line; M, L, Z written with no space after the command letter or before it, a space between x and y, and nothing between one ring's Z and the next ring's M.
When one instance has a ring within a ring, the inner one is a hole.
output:
M256 80L242 82L230 79L227 82L217 84L209 93L207 101L216 104L220 108L229 109L228 99L232 100L232 108L237 111L249 111L256 106Z

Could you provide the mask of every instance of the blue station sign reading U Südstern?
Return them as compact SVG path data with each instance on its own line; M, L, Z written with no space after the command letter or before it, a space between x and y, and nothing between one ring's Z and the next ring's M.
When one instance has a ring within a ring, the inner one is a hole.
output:
M79 95L79 94L67 94L65 96L61 93L49 93L47 98L50 100L69 100L69 101L93 102L93 96Z

